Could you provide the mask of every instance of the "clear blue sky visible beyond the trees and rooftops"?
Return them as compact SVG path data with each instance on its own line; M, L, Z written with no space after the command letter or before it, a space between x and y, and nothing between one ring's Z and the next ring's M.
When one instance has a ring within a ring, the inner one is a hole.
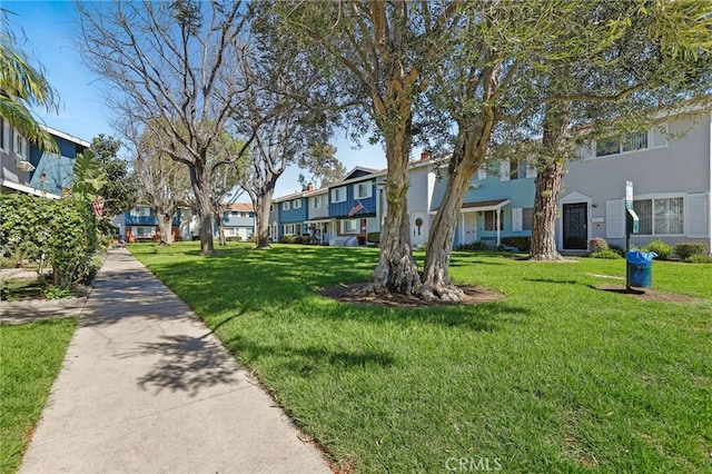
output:
M72 46L76 31L71 20L73 2L2 0L1 7L14 13L10 14L12 30L18 37L20 28L24 31L24 50L46 68L49 82L61 98L59 115L43 110L37 110L36 115L47 126L87 141L99 134L116 136L109 125L111 111L103 103L97 78L82 65ZM379 145L369 146L364 140L362 148L353 149L343 137L334 137L333 145L338 148L336 156L347 169L386 167L385 152ZM277 181L275 197L298 190L298 168L287 170ZM248 201L249 198L244 196L238 200Z

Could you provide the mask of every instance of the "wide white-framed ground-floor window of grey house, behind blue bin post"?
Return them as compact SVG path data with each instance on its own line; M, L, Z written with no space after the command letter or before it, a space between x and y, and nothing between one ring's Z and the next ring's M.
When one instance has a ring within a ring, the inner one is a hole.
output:
M634 200L633 210L640 218L640 234L684 234L684 201L681 197Z

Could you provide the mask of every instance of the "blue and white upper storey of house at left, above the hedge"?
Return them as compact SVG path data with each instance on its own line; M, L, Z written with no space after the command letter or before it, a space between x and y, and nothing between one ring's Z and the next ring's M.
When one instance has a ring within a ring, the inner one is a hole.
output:
M31 145L7 120L0 119L0 172L2 192L27 192L59 199L71 188L77 155L90 144L63 131L44 127L57 141L59 154Z

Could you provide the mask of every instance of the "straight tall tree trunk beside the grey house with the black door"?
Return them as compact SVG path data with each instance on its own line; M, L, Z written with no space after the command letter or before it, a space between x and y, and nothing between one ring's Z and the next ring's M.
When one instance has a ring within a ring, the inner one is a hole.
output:
M547 105L544 112L544 154L537 159L530 246L530 258L534 260L563 259L556 249L556 209L566 165L568 109L568 102L554 102Z

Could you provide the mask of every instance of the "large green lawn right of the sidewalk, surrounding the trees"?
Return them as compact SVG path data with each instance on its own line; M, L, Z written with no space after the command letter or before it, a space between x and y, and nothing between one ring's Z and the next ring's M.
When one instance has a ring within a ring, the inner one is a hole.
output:
M336 464L396 473L485 463L503 472L712 470L712 265L654 261L654 289L700 298L657 303L595 288L624 285L622 259L455 253L457 283L506 298L402 309L315 294L366 280L377 249L130 250Z

